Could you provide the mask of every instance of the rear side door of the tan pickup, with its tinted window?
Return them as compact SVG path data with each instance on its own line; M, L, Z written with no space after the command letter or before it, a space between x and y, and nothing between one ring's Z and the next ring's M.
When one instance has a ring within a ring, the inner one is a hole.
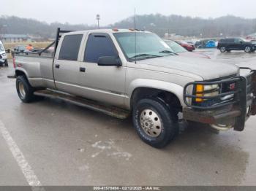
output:
M58 90L78 95L80 82L80 46L83 34L66 34L61 44L59 55L53 63L53 75Z

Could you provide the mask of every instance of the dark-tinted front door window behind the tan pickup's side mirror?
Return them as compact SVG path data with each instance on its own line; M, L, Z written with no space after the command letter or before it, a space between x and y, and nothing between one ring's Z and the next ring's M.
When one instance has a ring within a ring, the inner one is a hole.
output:
M107 34L90 34L86 44L83 61L97 63L99 57L117 56L116 47Z

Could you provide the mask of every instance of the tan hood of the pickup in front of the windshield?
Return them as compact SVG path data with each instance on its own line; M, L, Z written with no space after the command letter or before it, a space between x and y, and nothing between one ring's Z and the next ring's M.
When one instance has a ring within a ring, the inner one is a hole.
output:
M151 58L137 61L157 68L173 69L185 71L189 74L195 74L202 77L203 80L218 79L238 74L239 68L230 63L219 63L203 58L183 57L178 55Z

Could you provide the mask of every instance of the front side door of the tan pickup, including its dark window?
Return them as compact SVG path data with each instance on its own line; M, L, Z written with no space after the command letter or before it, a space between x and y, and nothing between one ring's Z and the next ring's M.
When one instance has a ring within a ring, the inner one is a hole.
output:
M126 63L122 66L98 66L102 56L115 56L118 50L109 34L89 34L83 54L85 72L80 76L87 98L115 106L124 105Z

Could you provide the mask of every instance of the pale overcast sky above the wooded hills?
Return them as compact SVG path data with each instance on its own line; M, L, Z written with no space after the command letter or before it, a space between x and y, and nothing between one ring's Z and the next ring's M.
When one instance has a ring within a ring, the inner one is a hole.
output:
M34 18L48 23L108 25L134 14L256 17L256 0L1 0L0 15Z

